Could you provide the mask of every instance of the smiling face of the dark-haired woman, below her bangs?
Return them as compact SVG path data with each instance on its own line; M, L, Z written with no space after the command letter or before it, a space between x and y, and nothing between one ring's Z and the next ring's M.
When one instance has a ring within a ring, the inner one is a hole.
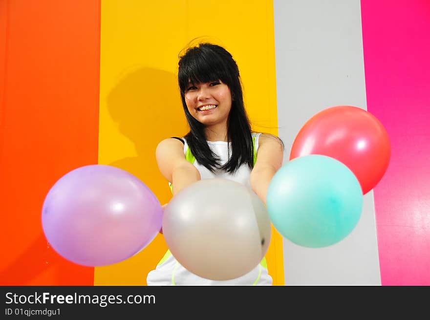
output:
M232 107L232 94L228 85L220 80L207 83L190 83L185 90L188 111L205 126L226 123Z

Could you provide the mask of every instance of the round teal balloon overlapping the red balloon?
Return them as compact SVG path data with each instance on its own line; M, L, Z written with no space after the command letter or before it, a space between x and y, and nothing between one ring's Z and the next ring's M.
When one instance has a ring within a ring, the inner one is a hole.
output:
M342 162L324 155L306 155L275 173L266 204L280 235L303 247L321 248L351 233L360 220L363 192Z

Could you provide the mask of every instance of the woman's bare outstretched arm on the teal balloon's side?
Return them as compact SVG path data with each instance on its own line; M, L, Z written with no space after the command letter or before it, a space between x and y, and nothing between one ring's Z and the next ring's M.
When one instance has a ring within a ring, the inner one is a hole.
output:
M282 166L283 145L271 134L261 134L258 139L257 161L251 171L251 188L266 203L267 188L276 171Z

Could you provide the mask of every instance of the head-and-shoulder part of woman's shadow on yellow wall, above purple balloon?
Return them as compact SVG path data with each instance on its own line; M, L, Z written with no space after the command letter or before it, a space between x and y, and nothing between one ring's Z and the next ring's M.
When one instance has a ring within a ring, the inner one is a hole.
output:
M159 198L162 202L162 194L170 190L158 172L155 149L161 140L188 132L176 76L151 68L135 70L110 91L107 105L120 132L133 142L137 152L136 157L110 165L136 175L163 198Z

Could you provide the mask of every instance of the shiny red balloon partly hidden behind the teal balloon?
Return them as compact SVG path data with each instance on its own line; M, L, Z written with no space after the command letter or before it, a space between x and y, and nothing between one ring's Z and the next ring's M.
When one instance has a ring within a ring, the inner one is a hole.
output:
M387 130L370 112L352 106L329 107L310 118L297 134L290 160L321 154L341 161L357 177L363 194L387 171Z

